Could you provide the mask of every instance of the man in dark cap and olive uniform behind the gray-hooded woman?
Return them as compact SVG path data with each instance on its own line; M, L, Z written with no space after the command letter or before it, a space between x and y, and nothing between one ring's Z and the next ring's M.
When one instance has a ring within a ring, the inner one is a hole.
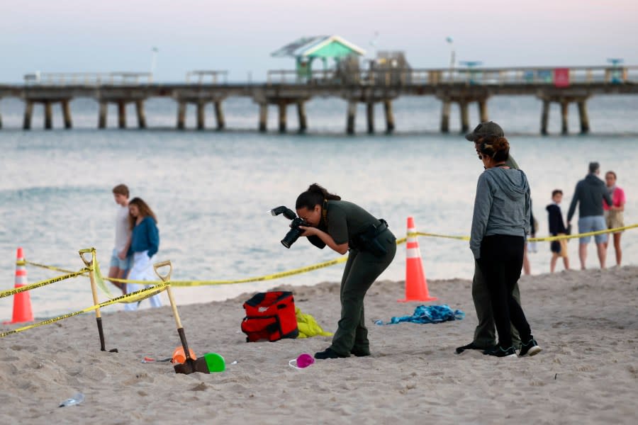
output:
M500 125L493 121L487 121L486 123L477 125L474 131L465 135L465 138L470 142L474 142L474 149L476 149L478 153L481 140L486 136L505 137L505 134L503 133L503 129L500 128ZM518 169L518 164L516 164L511 154L505 162L505 165L513 169ZM513 297L520 305L518 283L514 285ZM472 279L472 300L474 300L474 308L476 308L476 316L478 317L478 325L474 331L474 341L457 348L457 354L461 354L465 350L487 350L496 346L496 324L494 323L494 315L492 313L490 292L476 260L474 261L474 278ZM520 348L520 336L513 325L511 325L511 329L512 343L516 349L518 349Z

